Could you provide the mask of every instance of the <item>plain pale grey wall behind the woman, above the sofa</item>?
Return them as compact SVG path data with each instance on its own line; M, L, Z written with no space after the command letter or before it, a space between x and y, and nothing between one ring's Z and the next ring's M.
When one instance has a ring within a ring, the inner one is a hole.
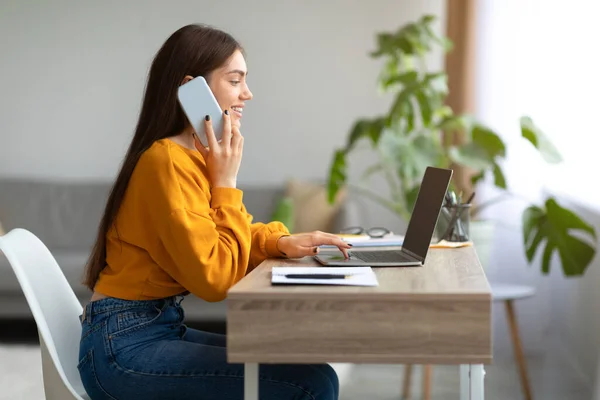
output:
M112 179L136 123L146 73L174 30L232 33L248 53L239 182L324 179L352 122L385 109L375 33L444 0L4 0L0 12L0 176ZM442 27L440 22L440 27ZM432 67L442 65L435 54ZM387 219L371 210L373 223Z

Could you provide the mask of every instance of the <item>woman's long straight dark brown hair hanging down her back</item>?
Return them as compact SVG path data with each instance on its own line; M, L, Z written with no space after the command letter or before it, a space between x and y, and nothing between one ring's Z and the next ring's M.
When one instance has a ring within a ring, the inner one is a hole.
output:
M108 196L87 262L83 283L90 290L94 290L106 266L106 235L138 160L156 140L177 135L188 123L177 101L177 88L186 75L209 79L208 75L224 65L236 50L243 51L228 33L204 25L187 25L174 32L154 57L135 134Z

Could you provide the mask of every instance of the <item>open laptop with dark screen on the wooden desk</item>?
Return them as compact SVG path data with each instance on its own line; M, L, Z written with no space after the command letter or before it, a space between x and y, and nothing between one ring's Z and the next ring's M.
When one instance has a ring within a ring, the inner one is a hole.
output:
M345 259L339 253L327 254L323 252L314 256L315 259L327 266L398 267L423 265L452 173L451 169L427 167L400 249L354 251L348 253L349 259Z

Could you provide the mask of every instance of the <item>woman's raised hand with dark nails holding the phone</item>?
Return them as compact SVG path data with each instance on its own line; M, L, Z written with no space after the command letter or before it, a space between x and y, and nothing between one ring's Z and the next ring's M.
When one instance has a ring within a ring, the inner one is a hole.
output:
M237 174L242 162L244 137L237 127L231 126L231 117L226 110L223 113L223 135L217 142L212 122L207 115L204 120L208 148L194 136L196 148L204 157L212 187L236 187Z

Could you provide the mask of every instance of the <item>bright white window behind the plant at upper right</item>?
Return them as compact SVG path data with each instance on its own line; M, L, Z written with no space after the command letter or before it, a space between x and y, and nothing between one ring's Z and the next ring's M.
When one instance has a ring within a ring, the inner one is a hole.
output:
M476 112L506 140L511 190L532 200L547 186L600 207L599 16L597 1L480 1ZM521 138L522 115L563 163L548 166Z

